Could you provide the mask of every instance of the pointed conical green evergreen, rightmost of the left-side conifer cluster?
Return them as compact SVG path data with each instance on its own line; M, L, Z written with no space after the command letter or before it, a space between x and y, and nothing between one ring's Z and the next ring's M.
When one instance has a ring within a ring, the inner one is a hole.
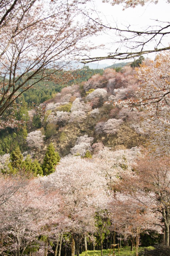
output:
M55 166L57 165L59 160L60 160L59 153L55 152L53 143L50 143L45 153L45 157L42 164L43 174L49 175L55 172Z

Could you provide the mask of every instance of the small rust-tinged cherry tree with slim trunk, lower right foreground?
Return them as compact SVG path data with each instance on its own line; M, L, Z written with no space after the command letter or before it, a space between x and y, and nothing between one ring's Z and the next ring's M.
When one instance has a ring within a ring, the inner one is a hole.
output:
M140 199L144 200L144 198ZM130 238L131 250L135 247L138 255L141 233L154 231L161 233L160 215L140 203L140 199L129 198L121 192L112 192L110 195L110 219L113 229L123 236Z

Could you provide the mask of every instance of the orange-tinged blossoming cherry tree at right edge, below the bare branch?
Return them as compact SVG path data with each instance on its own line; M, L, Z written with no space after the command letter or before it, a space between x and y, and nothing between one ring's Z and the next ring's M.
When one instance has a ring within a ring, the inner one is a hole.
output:
M138 68L140 87L136 91L135 98L118 101L119 106L135 106L144 111L143 118L150 129L148 144L151 151L155 151L157 155L169 154L169 56L169 51L161 53L152 65L144 64Z

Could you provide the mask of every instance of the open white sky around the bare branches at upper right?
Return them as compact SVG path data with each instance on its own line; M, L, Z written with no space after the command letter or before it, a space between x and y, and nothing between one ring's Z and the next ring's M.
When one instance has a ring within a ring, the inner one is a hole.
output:
M160 0L158 4L146 3L143 7L127 8L124 11L122 10L123 5L111 6L109 3L102 3L102 0L95 0L94 2L95 7L93 7L97 11L100 11L100 18L113 27L116 22L119 26L130 24L137 30L156 24L154 20L170 21L170 4L166 3L165 0ZM105 44L105 47L103 47L103 49L93 50L90 56L106 56L108 53L114 52L117 48L116 46L112 46L114 39L112 32L91 37L91 41L94 45ZM168 45L168 43L170 43L170 37L167 37L164 41L164 44ZM154 59L155 53L151 53L148 57ZM115 60L102 60L100 64L102 63L111 65L115 63Z

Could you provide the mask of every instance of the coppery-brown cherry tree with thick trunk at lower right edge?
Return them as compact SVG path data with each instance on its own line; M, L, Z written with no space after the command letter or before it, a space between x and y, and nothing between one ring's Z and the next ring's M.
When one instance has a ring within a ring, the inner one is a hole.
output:
M160 216L161 223L156 225L163 229L164 243L169 246L169 158L154 158L146 155L137 161L134 168L136 171L131 177L122 175L119 188L126 196Z

